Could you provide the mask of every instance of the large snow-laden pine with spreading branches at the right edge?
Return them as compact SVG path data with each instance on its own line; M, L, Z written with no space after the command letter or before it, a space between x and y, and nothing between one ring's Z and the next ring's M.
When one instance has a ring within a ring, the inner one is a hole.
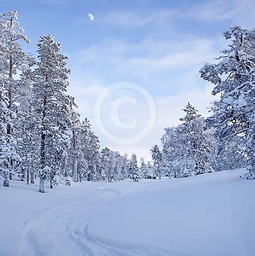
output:
M222 51L220 62L200 70L201 77L215 85L212 94L221 95L210 123L225 145L234 137L244 141L249 164L245 178L255 179L255 30L236 26L223 35L231 44Z

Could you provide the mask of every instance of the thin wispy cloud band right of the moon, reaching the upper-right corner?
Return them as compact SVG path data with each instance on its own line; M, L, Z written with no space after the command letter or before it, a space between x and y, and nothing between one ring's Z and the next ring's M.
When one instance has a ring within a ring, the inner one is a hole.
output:
M240 25L251 25L251 17L255 12L253 0L210 0L197 1L192 4L183 4L182 8L154 8L144 9L139 13L132 10L114 10L101 18L112 26L126 28L144 27L146 25L160 25L172 27L176 20L200 20L206 22L219 22L232 20Z

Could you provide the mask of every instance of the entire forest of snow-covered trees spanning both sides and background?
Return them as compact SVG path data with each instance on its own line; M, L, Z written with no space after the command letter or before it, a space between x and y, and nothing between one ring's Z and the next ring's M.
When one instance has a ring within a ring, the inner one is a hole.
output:
M8 187L14 175L45 184L82 180L186 178L208 172L247 168L255 179L255 30L238 26L223 36L229 46L206 63L201 77L220 95L202 117L187 103L178 127L165 128L161 146L151 149L153 163L134 154L100 147L89 120L80 120L75 99L67 94L68 57L52 35L41 36L37 56L23 51L30 43L17 11L0 14L0 178ZM65 47L65 46L63 46ZM207 108L208 106L204 106ZM140 163L137 163L140 162Z

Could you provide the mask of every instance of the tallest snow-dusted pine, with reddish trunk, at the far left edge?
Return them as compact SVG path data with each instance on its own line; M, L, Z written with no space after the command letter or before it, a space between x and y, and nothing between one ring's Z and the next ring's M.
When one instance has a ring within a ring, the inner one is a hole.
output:
M1 86L4 87L4 93L7 93L9 110L13 110L13 94L15 94L17 81L13 75L18 71L23 71L27 68L31 58L22 50L20 40L30 43L29 39L23 34L24 30L17 22L17 11L0 14L0 79ZM9 111L11 122L7 126L8 144L16 147L16 139L12 132L12 118L16 117L14 111ZM10 179L12 178L13 159L9 158ZM5 175L5 178L7 175ZM4 182L5 186L9 186L9 182Z

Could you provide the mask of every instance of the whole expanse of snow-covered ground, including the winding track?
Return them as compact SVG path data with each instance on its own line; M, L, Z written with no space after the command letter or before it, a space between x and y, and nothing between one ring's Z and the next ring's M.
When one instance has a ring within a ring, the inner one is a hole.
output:
M0 256L255 256L255 182L243 172L45 194L11 181L0 186Z

